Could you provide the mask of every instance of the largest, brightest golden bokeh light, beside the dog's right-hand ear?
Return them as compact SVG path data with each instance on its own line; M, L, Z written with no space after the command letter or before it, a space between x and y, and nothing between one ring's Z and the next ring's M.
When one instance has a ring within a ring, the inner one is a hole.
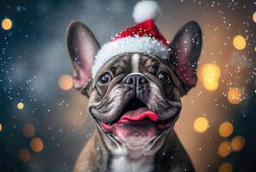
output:
M199 79L206 90L215 91L218 89L220 77L221 70L216 64L203 64L199 69Z

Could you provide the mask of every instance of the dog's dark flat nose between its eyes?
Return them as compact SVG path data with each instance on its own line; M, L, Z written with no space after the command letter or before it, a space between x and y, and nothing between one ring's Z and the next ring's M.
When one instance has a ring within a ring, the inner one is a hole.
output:
M134 85L136 84L137 87L140 87L140 85L144 83L148 83L147 77L145 77L142 74L136 73L136 74L129 74L127 77L124 78L124 83L128 85Z

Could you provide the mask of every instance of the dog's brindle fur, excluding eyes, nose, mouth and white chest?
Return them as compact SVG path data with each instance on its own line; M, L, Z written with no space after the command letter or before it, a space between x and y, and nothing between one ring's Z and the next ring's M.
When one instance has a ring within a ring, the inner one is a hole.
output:
M67 45L74 68L75 88L90 98L89 114L96 123L98 120L105 123L117 120L126 103L137 97L158 114L159 120L175 117L172 120L173 126L181 110L180 97L186 95L197 83L197 61L202 34L197 22L189 22L178 31L172 41L169 57L159 58L147 53L137 53L140 57L137 71L148 78L148 83L140 89L124 84L124 78L133 72L131 60L136 52L111 58L97 72L96 77L92 78L90 70L99 45L91 30L81 22L72 22L68 29ZM98 84L98 78L106 71L110 73L112 80L106 85ZM157 77L159 71L167 72L172 82L162 83ZM153 152L153 169L150 172L194 171L190 157L173 127L158 137L156 142L148 143ZM110 166L116 155L113 152L120 145L123 146L115 141L115 136L97 127L80 153L74 172L111 171Z

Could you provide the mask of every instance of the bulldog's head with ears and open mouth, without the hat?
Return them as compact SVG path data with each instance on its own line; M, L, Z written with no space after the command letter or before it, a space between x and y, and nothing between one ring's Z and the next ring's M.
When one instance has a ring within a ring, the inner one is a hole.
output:
M151 149L178 119L180 97L197 83L202 34L197 22L188 22L172 40L167 57L122 53L95 76L91 69L100 47L91 30L72 22L67 46L74 86L89 97L89 113L103 135L132 150Z

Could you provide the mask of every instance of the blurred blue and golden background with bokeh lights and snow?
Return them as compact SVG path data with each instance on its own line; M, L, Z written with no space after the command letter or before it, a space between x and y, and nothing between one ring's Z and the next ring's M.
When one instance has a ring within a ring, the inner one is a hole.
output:
M84 22L103 45L134 25L135 3L0 2L0 171L72 171L94 125L72 89L66 28ZM256 1L158 3L166 40L191 20L203 29L199 82L175 126L195 168L256 171Z

